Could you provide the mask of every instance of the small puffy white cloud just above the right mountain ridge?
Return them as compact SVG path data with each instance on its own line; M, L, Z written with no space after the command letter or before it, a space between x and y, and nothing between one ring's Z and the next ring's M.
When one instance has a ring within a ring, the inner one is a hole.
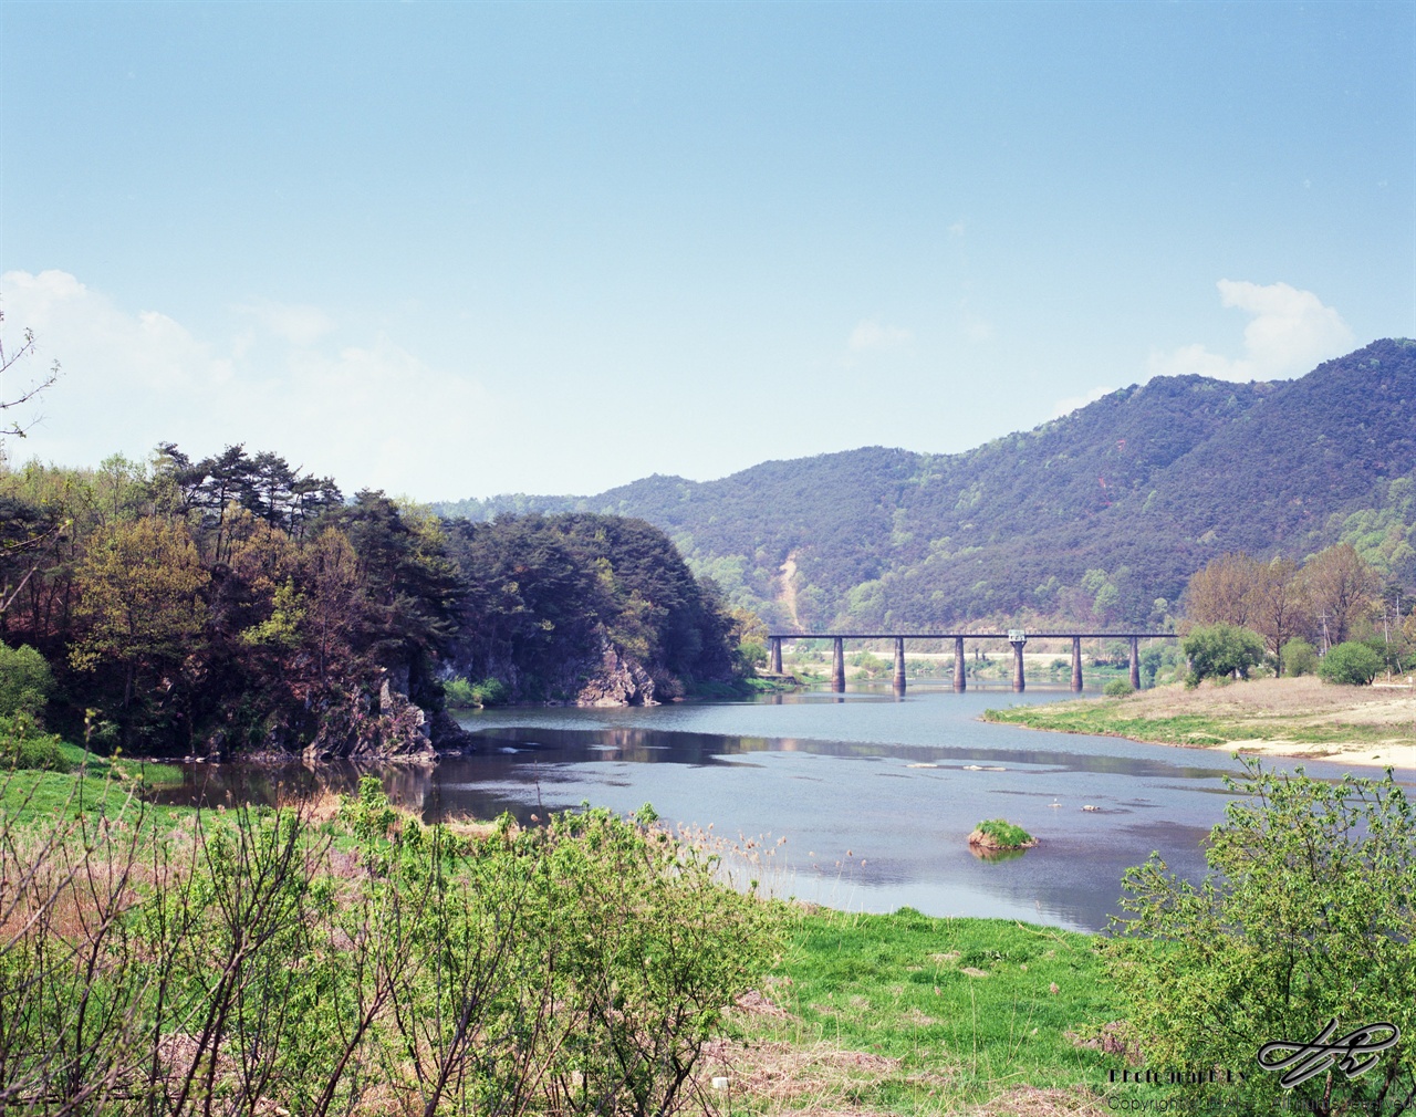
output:
M1315 365L1352 348L1352 331L1342 316L1310 290L1287 283L1221 279L1226 307L1252 317L1243 331L1243 357L1229 358L1201 344L1153 353L1150 375L1198 372L1228 381L1283 379L1311 372Z

